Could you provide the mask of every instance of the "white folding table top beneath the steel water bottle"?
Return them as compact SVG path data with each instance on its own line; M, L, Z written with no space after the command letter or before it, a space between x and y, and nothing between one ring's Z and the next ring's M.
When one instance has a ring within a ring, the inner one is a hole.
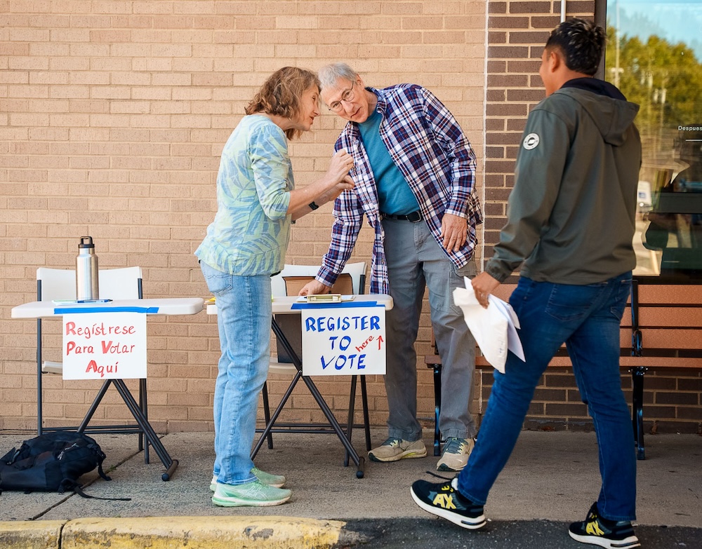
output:
M116 299L108 303L55 304L53 301L31 301L12 308L12 318L44 318L73 312L109 313L144 312L154 315L194 315L204 309L201 297L166 297L163 299Z

